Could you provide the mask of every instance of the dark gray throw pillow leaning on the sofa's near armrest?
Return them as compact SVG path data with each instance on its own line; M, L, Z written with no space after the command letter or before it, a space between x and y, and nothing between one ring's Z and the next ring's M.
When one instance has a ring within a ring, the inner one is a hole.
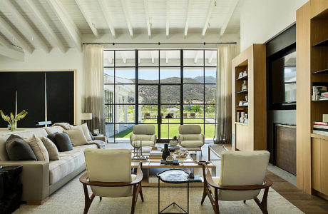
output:
M10 161L36 161L31 146L19 136L9 136L6 141L6 150Z

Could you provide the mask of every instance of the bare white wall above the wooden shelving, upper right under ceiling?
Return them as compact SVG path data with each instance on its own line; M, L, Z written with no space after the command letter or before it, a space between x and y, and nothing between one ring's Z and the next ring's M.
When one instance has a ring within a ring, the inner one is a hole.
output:
M240 48L263 44L296 21L308 0L244 0L240 14Z

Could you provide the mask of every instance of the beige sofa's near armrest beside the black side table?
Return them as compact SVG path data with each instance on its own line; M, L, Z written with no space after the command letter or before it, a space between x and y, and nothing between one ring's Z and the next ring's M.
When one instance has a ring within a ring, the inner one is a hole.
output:
M23 165L21 183L23 201L42 201L49 196L49 162L46 161L0 161L0 165Z

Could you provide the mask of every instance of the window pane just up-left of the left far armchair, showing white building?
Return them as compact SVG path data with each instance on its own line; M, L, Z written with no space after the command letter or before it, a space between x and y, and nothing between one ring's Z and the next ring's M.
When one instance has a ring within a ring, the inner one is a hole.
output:
M135 123L135 105L116 105L115 123Z

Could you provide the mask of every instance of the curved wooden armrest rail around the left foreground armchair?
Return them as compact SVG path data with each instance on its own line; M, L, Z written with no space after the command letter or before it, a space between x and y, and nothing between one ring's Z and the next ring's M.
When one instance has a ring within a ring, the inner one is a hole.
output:
M80 177L80 182L86 185L101 186L101 187L116 187L116 186L128 186L140 183L143 180L143 170L141 170L143 163L140 162L137 168L137 178L131 182L99 182L89 181L88 173L84 173Z

